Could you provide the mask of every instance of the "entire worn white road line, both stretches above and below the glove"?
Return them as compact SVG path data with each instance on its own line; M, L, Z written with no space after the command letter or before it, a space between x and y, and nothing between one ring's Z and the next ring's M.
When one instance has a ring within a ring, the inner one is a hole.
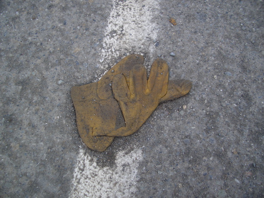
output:
M154 44L149 42L153 43L157 38L157 24L151 22L158 12L157 2L113 0L114 6L103 41L100 69L107 72L111 60L127 53L128 50L132 50L133 53L153 52ZM118 152L115 167L98 167L95 159L85 154L82 148L77 160L71 198L100 196L121 198L130 197L135 191L137 167L142 160L140 149L134 148L130 154L126 154L126 151Z

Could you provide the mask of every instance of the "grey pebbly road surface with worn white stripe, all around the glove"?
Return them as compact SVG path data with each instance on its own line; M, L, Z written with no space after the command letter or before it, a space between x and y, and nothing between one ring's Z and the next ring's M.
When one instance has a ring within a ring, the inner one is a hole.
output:
M193 88L91 151L70 88L133 53ZM264 197L262 0L1 0L0 75L2 198Z

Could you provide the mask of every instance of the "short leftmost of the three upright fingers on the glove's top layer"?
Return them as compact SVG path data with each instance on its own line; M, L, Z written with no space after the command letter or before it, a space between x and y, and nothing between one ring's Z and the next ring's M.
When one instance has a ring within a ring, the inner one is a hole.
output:
M116 74L113 77L112 90L114 98L119 102L127 102L131 97L130 90L127 85L127 81L124 75Z

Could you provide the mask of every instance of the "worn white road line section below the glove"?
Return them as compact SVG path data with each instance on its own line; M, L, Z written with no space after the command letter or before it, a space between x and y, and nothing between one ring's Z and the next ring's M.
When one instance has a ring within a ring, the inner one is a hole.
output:
M70 198L130 197L135 191L137 167L141 160L140 149L134 149L130 154L122 151L116 155L116 166L101 168L81 149Z

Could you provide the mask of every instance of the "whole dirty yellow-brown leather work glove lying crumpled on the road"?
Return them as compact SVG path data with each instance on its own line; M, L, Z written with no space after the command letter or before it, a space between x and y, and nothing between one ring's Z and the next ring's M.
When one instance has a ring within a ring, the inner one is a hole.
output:
M168 83L168 65L162 59L154 61L147 80L143 62L141 55L127 56L100 81L71 89L77 128L88 148L104 151L114 137L136 132L159 102L190 91L191 81Z

